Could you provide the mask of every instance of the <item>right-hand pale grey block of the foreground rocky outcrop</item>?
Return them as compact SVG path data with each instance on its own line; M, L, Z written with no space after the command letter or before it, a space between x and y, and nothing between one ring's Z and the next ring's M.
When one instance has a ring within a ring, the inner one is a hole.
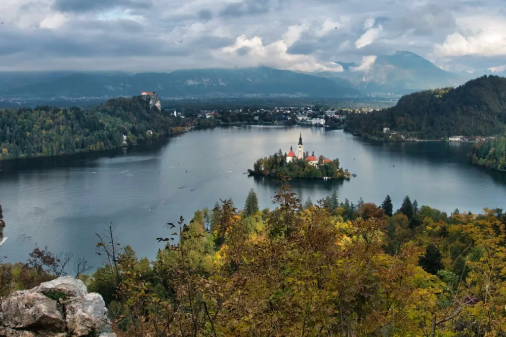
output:
M106 332L109 326L104 300L98 293L75 297L65 301L68 330L75 336L85 336L91 332Z

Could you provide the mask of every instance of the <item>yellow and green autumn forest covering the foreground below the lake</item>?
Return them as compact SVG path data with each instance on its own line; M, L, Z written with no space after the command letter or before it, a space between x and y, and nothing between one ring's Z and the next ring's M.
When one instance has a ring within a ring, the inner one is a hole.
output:
M506 334L502 209L447 215L406 197L394 212L389 196L378 207L336 193L302 204L279 179L274 209L251 190L243 210L222 200L167 223L154 261L114 227L99 234L104 265L79 277L118 336ZM0 264L0 296L61 275L58 256Z

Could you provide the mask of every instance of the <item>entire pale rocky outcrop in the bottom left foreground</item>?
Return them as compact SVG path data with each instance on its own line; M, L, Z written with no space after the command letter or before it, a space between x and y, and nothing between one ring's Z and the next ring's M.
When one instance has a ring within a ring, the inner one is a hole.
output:
M72 277L16 291L0 303L0 336L88 335L115 337L102 296L87 293L85 284Z

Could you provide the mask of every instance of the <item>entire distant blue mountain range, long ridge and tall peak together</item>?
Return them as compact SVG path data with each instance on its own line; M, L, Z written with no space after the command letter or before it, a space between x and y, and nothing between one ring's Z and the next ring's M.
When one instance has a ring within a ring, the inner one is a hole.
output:
M155 91L161 98L321 97L403 95L455 87L470 77L445 71L411 52L377 56L364 66L340 62L342 72L298 73L268 67L192 69L157 73L4 72L0 100L110 98Z

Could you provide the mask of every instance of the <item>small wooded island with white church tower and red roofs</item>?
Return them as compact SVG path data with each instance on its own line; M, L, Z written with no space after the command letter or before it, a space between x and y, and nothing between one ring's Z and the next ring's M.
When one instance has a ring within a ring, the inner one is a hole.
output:
M279 149L269 157L258 159L250 175L276 177L282 174L289 178L322 178L322 179L348 179L351 174L348 170L339 167L339 159L328 159L323 155L315 157L314 152L304 152L302 134L297 145L297 154L290 147L288 154Z

